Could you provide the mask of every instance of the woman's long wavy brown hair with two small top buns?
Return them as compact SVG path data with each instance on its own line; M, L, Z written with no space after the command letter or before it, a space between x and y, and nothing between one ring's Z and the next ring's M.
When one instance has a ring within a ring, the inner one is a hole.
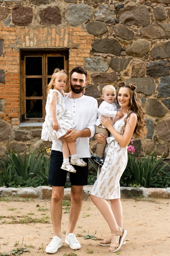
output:
M118 85L118 92L117 92L117 96L116 96L117 102L118 102L118 93L119 93L120 88L129 88L129 91L131 94L128 115L124 119L124 121L125 121L124 128L126 126L127 120L130 117L131 111L133 111L137 115L137 124L136 124L135 130L133 133L134 133L135 137L144 138L148 133L148 129L146 128L146 120L144 119L145 111L142 108L142 101L137 97L136 85L135 85L135 83L130 83L130 84L125 84L124 82L120 83Z

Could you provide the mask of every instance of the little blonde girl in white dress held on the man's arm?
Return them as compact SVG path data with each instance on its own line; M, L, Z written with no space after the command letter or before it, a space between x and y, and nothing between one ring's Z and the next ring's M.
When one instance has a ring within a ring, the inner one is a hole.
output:
M41 132L41 139L45 141L62 139L62 136L74 127L75 121L71 117L71 112L67 110L63 98L67 81L68 76L65 70L58 68L54 70L47 88L46 117ZM86 166L87 164L76 154L75 142L67 143L64 139L62 141L63 164L61 169L76 173L71 164L78 166ZM71 154L71 164L69 153Z

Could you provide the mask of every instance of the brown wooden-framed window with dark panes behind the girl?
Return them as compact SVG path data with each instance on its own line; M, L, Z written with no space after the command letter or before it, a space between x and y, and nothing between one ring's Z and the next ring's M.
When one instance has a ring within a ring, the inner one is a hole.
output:
M43 122L46 89L55 68L68 71L67 50L21 50L20 121Z

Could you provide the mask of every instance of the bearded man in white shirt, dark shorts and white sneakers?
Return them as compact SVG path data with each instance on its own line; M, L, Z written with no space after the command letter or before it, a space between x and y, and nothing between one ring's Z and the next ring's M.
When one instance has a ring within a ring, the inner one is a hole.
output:
M70 73L69 84L71 93L65 97L65 104L68 110L72 112L75 120L75 129L68 130L64 139L69 143L76 141L76 151L79 157L87 162L87 166L76 166L76 173L70 173L71 182L71 206L69 214L69 224L66 233L65 243L71 249L80 249L81 245L73 234L76 222L78 220L81 206L83 185L87 184L88 176L88 157L91 156L89 151L89 139L94 136L94 124L97 118L98 104L93 97L83 95L82 91L86 86L87 71L83 67L75 67ZM46 247L46 252L53 254L62 247L61 237L61 217L62 201L64 186L67 172L61 170L63 162L62 140L52 141L52 152L50 157L50 171L48 183L52 185L51 198L51 217L54 230L54 237Z

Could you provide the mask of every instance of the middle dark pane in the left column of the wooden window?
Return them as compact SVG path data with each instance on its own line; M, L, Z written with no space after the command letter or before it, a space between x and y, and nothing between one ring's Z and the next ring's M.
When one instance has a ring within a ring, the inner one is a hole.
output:
M26 78L26 97L42 97L42 79Z

